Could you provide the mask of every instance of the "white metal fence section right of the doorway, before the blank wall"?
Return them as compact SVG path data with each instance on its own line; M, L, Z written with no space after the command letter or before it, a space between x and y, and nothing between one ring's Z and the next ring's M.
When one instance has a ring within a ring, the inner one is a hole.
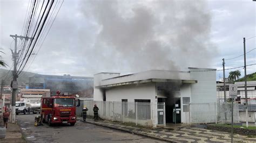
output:
M231 103L190 103L190 124L214 124L231 122ZM233 106L234 122L239 122L238 104Z

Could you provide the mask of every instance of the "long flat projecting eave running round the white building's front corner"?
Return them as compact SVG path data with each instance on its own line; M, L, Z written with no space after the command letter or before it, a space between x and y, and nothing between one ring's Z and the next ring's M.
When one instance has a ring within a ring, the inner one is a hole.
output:
M129 81L129 82L122 82L122 83L99 85L96 88L111 88L111 87L140 84L140 83L149 83L149 82L170 82L170 83L190 83L191 84L191 83L197 83L197 80L169 80L169 79L160 79L160 78L150 78L147 80L138 80L138 81Z

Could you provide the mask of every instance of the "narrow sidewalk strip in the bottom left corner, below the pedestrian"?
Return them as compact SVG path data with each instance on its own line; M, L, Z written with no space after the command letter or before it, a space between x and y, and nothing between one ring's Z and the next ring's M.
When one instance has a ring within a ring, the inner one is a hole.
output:
M4 139L0 139L0 142L25 142L22 139L22 134L17 124L8 123L6 128L6 135Z

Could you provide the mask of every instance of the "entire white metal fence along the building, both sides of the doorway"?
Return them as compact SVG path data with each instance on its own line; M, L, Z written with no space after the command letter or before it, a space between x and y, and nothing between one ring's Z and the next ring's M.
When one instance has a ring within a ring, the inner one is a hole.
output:
M93 116L93 106L97 104L99 117L106 120L121 121L143 126L166 125L165 103L143 103L143 102L103 102L83 101L77 115L80 115L84 105L89 109L88 116ZM183 106L186 124L215 124L231 122L231 103L190 103ZM234 103L234 122L239 122L238 104Z

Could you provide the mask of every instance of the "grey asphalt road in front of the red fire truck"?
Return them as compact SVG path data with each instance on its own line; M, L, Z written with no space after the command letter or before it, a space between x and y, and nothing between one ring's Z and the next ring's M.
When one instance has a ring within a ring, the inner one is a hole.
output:
M139 135L77 121L75 126L34 126L37 115L18 115L18 124L28 142L162 142Z

